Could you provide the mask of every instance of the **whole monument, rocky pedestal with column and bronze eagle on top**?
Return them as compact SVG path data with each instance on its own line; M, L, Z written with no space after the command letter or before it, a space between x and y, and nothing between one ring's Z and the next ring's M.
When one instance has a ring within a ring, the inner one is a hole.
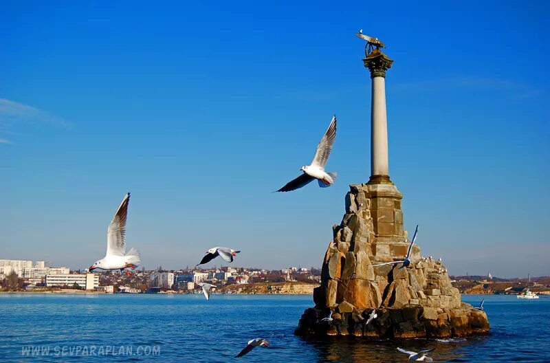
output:
M371 73L371 177L350 186L346 212L333 226L322 263L321 285L314 289L315 307L306 309L295 333L373 339L487 333L485 311L462 303L443 263L421 256L417 244L407 267L383 265L401 261L410 244L403 195L389 177L385 78L393 61L382 52L382 41L362 32L357 36L366 41L363 62ZM373 309L377 318L367 325ZM332 320L321 321L331 311Z

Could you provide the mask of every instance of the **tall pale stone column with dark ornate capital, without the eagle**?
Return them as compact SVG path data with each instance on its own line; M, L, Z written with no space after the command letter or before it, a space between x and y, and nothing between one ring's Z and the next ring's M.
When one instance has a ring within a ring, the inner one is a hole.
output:
M391 184L388 165L388 121L386 116L386 70L393 61L375 49L363 60L371 71L371 178L369 184Z

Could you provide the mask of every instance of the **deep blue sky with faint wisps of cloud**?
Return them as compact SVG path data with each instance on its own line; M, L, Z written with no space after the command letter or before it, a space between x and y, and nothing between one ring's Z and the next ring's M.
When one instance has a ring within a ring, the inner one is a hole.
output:
M422 253L550 274L549 2L111 2L1 5L0 259L88 267L130 191L146 268L215 245L320 267L370 174L362 28L395 61L390 174ZM337 183L272 193L334 113Z

